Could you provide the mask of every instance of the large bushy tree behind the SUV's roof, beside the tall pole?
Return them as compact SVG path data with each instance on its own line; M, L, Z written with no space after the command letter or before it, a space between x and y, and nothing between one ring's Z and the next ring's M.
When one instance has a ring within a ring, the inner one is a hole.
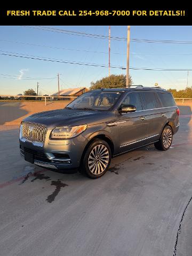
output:
M133 81L129 76L129 85L132 85ZM126 87L126 75L110 75L103 77L102 79L91 82L90 90L101 89L101 88L121 88Z

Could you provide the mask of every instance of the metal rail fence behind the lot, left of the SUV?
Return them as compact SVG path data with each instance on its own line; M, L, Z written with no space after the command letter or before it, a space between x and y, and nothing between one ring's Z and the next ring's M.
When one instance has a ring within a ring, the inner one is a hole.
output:
M1 102L1 98L6 98L6 99L2 99L2 100L17 100L19 98L31 98L31 99L35 99L38 100L39 99L43 99L43 101L45 101L45 106L46 106L46 102L47 100L49 101L54 101L54 98L60 100L60 99L69 99L69 101L72 101L74 99L77 98L77 96L34 96L34 95L0 95L0 102ZM21 99L22 100L22 99ZM24 99L25 100L25 99Z

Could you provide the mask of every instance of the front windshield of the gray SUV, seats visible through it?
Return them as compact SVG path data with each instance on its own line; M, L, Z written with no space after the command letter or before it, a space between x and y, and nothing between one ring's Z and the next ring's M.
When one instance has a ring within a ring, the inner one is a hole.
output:
M115 105L121 92L90 91L69 103L66 108L108 110Z

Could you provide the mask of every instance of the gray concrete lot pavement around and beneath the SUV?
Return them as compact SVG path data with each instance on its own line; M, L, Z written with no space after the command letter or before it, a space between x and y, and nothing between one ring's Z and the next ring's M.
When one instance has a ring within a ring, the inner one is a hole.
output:
M0 254L189 255L191 115L180 124L170 150L115 157L98 180L23 161L18 126L2 125Z

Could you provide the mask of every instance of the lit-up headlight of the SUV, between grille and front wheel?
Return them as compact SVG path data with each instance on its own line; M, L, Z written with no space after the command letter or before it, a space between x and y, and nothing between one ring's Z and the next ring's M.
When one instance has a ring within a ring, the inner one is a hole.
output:
M57 127L51 133L51 139L69 139L86 130L87 125Z

